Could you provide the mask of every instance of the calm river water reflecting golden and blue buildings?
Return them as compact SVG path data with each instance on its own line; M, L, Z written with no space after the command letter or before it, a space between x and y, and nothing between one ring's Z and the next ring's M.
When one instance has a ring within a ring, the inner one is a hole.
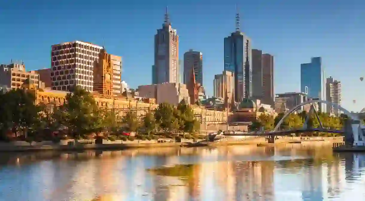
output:
M364 174L364 154L302 145L0 153L0 201L360 201Z

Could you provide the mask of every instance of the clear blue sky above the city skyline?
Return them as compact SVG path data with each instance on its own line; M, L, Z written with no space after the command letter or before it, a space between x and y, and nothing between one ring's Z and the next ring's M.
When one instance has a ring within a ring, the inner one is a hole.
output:
M180 35L179 55L203 52L203 86L212 95L223 71L223 38L241 30L252 47L274 55L275 93L300 90L300 64L321 56L325 75L342 82L342 105L360 110L365 95L365 1L362 0L11 0L0 7L0 62L23 60L27 70L50 67L50 46L105 40L108 53L123 57L122 79L131 87L151 83L153 43L166 5ZM356 100L356 104L353 104Z

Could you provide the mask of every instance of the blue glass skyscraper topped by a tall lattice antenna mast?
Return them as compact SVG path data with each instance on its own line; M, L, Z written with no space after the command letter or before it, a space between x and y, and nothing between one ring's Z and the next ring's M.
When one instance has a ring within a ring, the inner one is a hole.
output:
M224 38L224 71L234 74L234 99L252 97L251 39L240 30L239 13L236 14L236 31Z

